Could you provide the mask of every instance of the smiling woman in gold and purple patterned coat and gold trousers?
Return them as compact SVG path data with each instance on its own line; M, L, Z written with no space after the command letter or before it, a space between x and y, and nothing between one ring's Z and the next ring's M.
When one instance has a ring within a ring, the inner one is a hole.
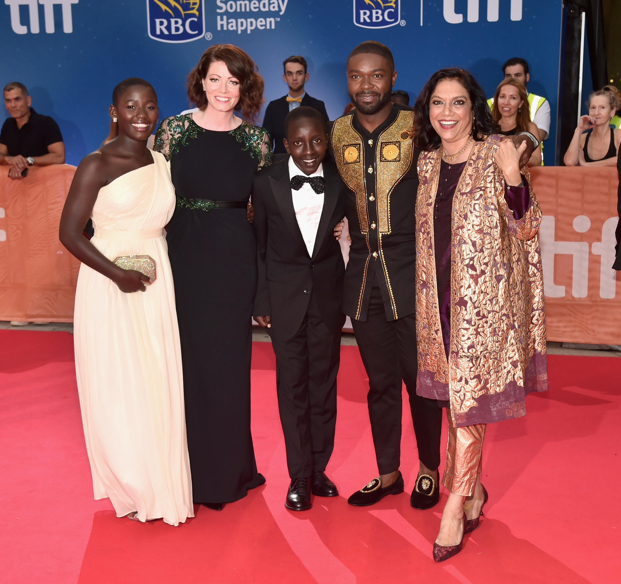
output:
M525 145L501 142L468 71L433 74L414 112L417 393L446 403L449 426L441 562L483 514L486 425L524 416L525 395L547 389L541 210L520 173Z

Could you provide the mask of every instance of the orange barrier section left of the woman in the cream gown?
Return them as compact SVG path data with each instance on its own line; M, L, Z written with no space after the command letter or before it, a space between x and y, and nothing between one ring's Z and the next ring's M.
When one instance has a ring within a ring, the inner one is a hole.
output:
M79 261L58 240L76 167L29 168L19 181L0 166L0 320L73 322Z

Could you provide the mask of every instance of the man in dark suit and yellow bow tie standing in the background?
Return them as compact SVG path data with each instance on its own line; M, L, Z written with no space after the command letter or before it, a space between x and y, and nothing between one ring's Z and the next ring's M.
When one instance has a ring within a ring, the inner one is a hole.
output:
M296 107L312 107L324 117L326 124L329 122L324 102L309 96L304 89L304 84L309 80L306 59L301 55L292 55L284 61L283 68L283 81L288 85L289 93L280 99L271 101L265 110L265 119L263 119L263 127L274 142L274 154L286 154L283 143L284 119Z

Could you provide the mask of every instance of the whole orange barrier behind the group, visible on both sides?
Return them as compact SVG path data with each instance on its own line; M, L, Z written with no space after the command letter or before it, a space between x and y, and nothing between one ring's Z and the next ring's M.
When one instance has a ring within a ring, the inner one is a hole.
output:
M79 262L58 241L58 222L75 166L32 167L22 181L2 169L0 320L71 322ZM531 175L543 211L548 340L621 344L621 276L611 268L617 169L543 166Z

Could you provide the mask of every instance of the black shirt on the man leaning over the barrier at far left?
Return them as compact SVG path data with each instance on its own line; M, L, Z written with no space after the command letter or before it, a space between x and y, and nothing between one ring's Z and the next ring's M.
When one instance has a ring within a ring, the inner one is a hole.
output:
M2 124L0 144L7 147L9 156L45 156L49 153L47 147L57 142L63 142L58 124L49 115L37 114L33 107L29 120L21 128L12 117Z

